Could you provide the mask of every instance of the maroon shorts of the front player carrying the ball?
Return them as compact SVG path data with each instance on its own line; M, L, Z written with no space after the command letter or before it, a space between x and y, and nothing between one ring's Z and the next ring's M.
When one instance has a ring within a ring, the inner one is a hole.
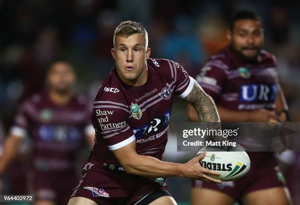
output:
M85 197L100 205L131 205L148 194L168 190L165 179L159 180L109 170L99 163L84 165L82 179L71 197Z

